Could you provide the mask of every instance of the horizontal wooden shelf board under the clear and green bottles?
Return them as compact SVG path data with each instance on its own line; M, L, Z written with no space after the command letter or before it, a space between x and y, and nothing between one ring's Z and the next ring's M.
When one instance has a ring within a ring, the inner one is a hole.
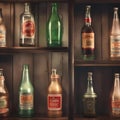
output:
M67 47L4 47L0 48L0 54L14 54L14 53L40 53L40 52L68 52Z

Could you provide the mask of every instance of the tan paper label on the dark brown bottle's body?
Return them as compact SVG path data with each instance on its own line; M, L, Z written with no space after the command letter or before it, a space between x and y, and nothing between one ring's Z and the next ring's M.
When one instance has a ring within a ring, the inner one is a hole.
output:
M82 33L82 48L94 49L94 33Z

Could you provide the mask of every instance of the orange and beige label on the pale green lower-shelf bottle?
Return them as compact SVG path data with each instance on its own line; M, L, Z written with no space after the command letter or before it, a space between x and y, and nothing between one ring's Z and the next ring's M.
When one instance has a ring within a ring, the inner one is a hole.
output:
M20 109L33 109L33 94L20 94Z

